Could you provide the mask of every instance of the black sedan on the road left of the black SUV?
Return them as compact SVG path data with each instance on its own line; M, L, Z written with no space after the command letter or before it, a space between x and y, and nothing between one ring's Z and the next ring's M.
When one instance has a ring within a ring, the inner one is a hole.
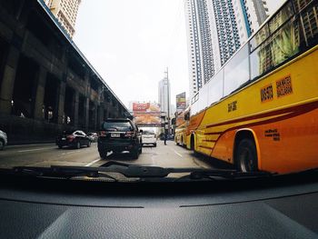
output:
M64 131L62 134L57 136L56 145L59 148L62 148L63 146L71 146L79 149L83 145L90 147L91 141L89 137L81 130Z

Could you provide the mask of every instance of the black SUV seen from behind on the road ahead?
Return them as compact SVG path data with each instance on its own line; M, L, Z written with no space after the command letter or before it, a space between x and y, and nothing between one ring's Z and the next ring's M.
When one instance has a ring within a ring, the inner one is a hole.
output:
M113 151L113 154L129 151L133 158L137 159L143 150L141 134L130 119L104 121L99 131L97 145L99 155L103 159L110 151Z

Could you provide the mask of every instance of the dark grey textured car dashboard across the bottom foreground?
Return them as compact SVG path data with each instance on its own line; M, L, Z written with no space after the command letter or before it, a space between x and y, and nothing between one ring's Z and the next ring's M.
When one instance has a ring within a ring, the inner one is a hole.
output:
M0 181L0 238L318 237L316 180Z

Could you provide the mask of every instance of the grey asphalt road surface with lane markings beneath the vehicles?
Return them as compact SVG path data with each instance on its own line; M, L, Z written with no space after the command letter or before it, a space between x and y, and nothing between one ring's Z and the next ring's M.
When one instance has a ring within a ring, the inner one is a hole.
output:
M1 168L50 165L100 166L109 160L162 167L213 167L210 159L194 155L191 151L175 145L173 141L167 141L167 145L158 141L157 147L144 146L143 154L140 154L138 159L132 159L130 154L126 153L109 153L107 158L102 160L96 143L89 148L84 146L81 149L67 147L58 149L55 144L28 144L7 146L4 151L0 151Z

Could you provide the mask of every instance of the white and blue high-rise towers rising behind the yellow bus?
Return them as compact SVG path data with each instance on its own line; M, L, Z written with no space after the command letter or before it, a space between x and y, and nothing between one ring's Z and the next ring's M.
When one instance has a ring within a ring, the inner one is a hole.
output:
M193 97L268 16L262 0L184 0Z

